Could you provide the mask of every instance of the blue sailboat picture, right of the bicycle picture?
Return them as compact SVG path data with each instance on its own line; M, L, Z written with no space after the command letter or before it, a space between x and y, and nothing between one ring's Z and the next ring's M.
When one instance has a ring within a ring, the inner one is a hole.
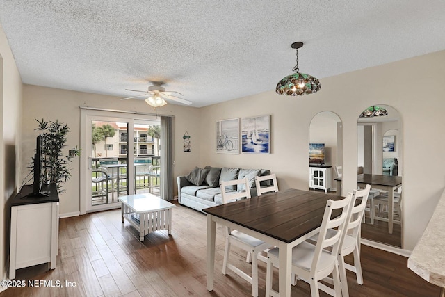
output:
M242 152L270 153L270 115L241 119Z

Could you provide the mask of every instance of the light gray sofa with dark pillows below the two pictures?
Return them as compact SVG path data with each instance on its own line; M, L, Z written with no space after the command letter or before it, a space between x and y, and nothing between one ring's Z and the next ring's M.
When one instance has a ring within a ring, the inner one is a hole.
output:
M266 169L219 168L206 166L192 170L188 175L177 177L179 204L198 211L207 207L223 204L220 181L247 178L252 197L257 195L255 176L270 175ZM268 185L267 182L262 184ZM229 189L229 191L243 191L243 188Z

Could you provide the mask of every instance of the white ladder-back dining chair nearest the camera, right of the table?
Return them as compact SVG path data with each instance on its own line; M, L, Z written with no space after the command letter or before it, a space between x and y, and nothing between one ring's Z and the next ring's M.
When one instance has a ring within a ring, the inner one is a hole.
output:
M303 241L292 249L292 273L298 275L300 280L308 282L311 286L311 295L319 296L318 289L328 292L332 296L341 296L341 282L339 276L338 252L341 246L341 238L348 223L350 209L352 207L352 193L348 193L342 200L327 200L323 221L316 245ZM340 211L341 216L331 218L332 211ZM332 236L326 236L327 230L337 228L337 232ZM328 251L326 248L331 247ZM266 296L279 296L277 291L272 289L273 266L278 267L279 248L273 248L268 252L268 262L266 268ZM334 289L320 283L332 273Z

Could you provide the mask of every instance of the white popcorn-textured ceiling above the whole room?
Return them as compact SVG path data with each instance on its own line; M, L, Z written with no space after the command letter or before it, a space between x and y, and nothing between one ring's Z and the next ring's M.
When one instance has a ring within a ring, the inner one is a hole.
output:
M192 106L445 49L443 0L1 0L24 83L130 97L164 81Z

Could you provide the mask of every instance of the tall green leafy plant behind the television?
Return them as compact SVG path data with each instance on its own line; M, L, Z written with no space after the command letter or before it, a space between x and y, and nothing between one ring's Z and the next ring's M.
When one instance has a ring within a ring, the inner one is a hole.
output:
M66 147L67 134L70 128L66 124L45 120L37 120L38 128L42 135L42 181L44 184L56 184L58 193L62 193L63 182L71 177L68 164L72 162L72 158L80 155L80 150L76 147L69 150L67 156L63 155L63 148Z

